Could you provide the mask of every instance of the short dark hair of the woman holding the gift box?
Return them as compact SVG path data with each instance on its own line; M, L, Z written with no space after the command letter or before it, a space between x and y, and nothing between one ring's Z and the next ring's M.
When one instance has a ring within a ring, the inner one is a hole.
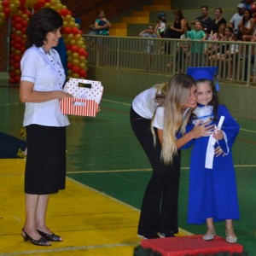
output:
M47 33L54 32L62 25L63 19L55 9L39 9L28 22L26 48L31 47L33 44L41 47L44 44Z

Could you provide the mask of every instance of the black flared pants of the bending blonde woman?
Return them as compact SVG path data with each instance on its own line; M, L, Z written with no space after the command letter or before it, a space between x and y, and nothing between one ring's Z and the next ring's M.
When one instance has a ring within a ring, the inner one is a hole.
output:
M180 177L180 151L174 157L172 165L166 165L160 159L161 146L157 139L153 143L150 131L150 119L144 119L132 108L130 113L131 127L143 146L153 168L143 197L143 205L138 224L138 234L142 236L178 232L177 201Z

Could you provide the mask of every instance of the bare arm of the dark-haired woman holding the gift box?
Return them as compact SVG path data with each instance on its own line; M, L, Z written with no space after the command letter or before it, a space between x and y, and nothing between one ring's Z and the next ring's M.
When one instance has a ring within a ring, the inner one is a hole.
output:
M33 90L34 84L29 81L20 82L20 101L21 102L49 102L54 99L73 97L62 90L37 91Z

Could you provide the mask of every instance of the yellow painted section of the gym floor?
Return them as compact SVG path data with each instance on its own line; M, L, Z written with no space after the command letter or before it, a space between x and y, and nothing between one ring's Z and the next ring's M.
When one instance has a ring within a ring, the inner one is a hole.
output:
M71 178L67 189L51 195L47 215L50 229L64 241L51 247L23 241L24 167L25 160L0 160L0 255L132 255L140 241L139 211Z

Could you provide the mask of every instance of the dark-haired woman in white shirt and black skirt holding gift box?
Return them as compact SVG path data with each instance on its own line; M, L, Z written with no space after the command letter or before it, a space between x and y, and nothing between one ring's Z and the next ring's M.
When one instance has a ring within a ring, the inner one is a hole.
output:
M40 9L29 20L26 52L20 79L20 101L26 102L26 223L24 241L49 246L62 241L45 223L49 195L65 189L66 126L59 100L72 97L62 91L65 72L55 49L61 38L63 20L54 9Z

